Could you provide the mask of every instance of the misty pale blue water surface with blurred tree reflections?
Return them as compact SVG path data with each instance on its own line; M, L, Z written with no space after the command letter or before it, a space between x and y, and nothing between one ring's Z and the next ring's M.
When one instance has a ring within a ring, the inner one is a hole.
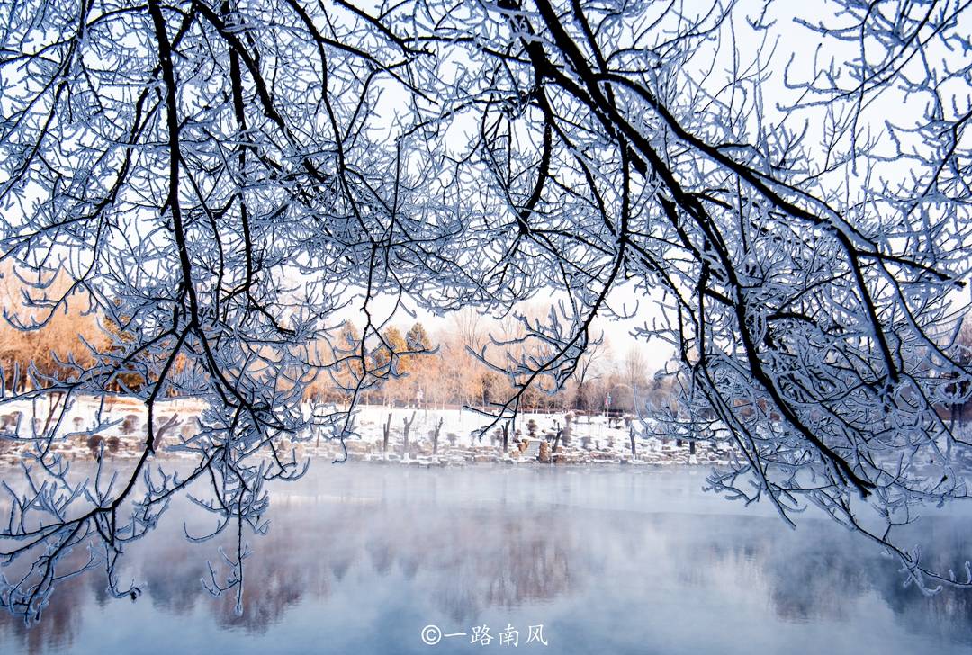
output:
M704 494L704 474L318 464L275 489L242 617L202 588L216 544L187 543L199 517L177 505L127 553L137 602L97 571L68 581L40 625L0 616L0 653L972 651L972 595L924 598L862 540L810 517L790 531ZM969 525L939 517L925 537L968 557ZM426 645L429 624L494 639ZM540 624L548 645L526 644Z

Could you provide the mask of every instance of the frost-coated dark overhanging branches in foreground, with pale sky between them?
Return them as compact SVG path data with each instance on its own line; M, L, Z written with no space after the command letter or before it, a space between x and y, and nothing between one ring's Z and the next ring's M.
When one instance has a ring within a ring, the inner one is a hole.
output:
M30 566L0 603L39 618L86 545L83 568L137 595L115 574L125 543L197 480L214 534L237 535L209 587L242 603L264 485L306 468L282 438L343 440L358 397L417 354L375 298L495 316L554 299L520 336L469 344L514 386L489 398L499 423L573 379L596 317L637 311L612 305L624 283L662 298L639 333L677 352L672 435L741 453L712 490L788 523L816 505L926 592L972 585L896 539L921 505L968 497L969 443L940 415L969 391L966 4L14 2L0 259L43 311L10 320L40 329L83 292L118 328L6 400L121 389L149 430L109 486L68 475L56 419L5 434L34 444L34 491L11 491L0 552ZM785 52L808 42L818 56ZM348 306L364 327L338 338ZM322 374L350 406L308 415ZM156 465L167 396L209 405L188 474Z

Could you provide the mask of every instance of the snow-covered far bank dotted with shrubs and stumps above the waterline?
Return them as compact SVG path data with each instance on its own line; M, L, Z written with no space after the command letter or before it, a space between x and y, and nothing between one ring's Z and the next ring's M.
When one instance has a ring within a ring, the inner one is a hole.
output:
M159 457L177 457L173 447L191 436L204 403L193 399L159 402L156 405L156 434ZM92 459L98 452L110 457L141 455L147 432L145 405L134 398L111 398L101 403L82 398L61 416L60 408L47 400L19 402L0 406L0 462L16 465L20 453L36 447L31 437L56 424L52 450L69 459ZM313 408L304 407L310 416ZM50 422L49 423L49 417ZM389 419L391 419L389 421ZM100 420L99 423L96 423ZM57 423L59 421L59 423ZM407 449L405 431L408 432ZM346 457L375 463L399 462L409 465L465 465L508 462L511 464L598 464L636 465L717 465L725 464L731 453L700 442L688 442L642 435L636 417L609 419L604 415L532 414L517 417L503 450L502 428L489 417L469 409L431 409L426 407L362 406L355 414L355 435L342 444L314 430L285 439L298 458ZM437 447L434 433L438 426ZM385 429L389 428L385 448ZM631 431L634 428L634 452ZM16 440L11 437L16 434ZM559 437L558 437L559 434ZM102 441L104 442L102 444Z

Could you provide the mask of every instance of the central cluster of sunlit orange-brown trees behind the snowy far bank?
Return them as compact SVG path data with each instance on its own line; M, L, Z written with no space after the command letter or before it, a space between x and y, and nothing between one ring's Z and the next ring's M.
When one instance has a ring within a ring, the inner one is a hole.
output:
M347 349L346 362L336 372L329 368L318 374L307 387L307 399L342 403L360 391L366 404L488 408L516 390L508 376L491 369L475 352L491 343L491 334L508 335L511 329L508 322L490 322L461 311L440 330L430 331L421 322L391 326L381 331L381 340L363 344L358 327L347 322L335 340ZM340 361L341 354L330 357ZM382 381L358 390L355 382L364 377L365 366ZM673 377L648 369L641 350L632 348L614 357L603 342L585 356L567 385L550 390L535 384L523 395L521 406L540 412L632 413L645 403L674 404L674 385Z

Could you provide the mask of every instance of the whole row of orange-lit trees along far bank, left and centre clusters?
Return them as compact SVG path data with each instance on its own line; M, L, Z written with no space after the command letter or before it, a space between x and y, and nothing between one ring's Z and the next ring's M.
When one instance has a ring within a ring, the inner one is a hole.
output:
M72 370L90 366L95 357L121 352L124 331L117 321L87 312L83 293L69 298L46 327L19 329L31 316L31 307L23 306L19 299L22 287L18 274L7 268L0 277L0 294L7 308L7 320L0 323L0 368L8 392L43 387L45 379L70 377ZM362 357L361 332L348 321L333 340L336 347L320 344L326 351L318 353L323 365L305 396L323 402L348 401L367 366L379 374L377 384L362 390L365 403L489 407L515 390L508 376L492 370L470 350L489 343L491 333L508 335L512 330L509 322L504 325L471 310L461 311L437 331L430 332L421 322L386 327L381 340L364 344ZM113 341L120 347L111 348ZM466 344L472 345L467 348ZM327 365L334 362L340 365ZM145 375L151 377L147 363L139 358L127 362L111 391L125 394L141 389ZM184 363L176 362L177 372ZM656 377L648 370L641 350L632 348L615 357L605 342L591 349L564 388L552 392L541 385L531 387L523 396L523 407L540 412L632 413L636 404L643 409L645 403L674 403L673 387L673 378Z

